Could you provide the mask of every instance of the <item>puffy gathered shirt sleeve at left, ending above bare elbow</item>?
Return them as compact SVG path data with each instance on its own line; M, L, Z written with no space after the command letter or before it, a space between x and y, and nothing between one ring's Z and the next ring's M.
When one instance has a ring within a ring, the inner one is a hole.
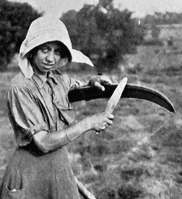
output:
M34 134L49 131L38 103L28 88L17 86L7 92L9 118L19 146L30 143Z

